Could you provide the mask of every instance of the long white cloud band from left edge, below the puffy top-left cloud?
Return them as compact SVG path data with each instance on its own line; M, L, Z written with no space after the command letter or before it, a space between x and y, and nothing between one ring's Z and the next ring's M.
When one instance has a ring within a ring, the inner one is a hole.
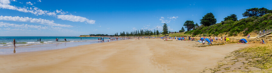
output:
M54 23L53 20L46 20L46 19L41 19L41 18L35 19L35 18L19 17L19 16L15 16L15 17L12 17L12 16L0 16L0 20L39 23L39 24L45 24L45 25L48 25L48 26L73 27L71 25L57 24L57 23Z

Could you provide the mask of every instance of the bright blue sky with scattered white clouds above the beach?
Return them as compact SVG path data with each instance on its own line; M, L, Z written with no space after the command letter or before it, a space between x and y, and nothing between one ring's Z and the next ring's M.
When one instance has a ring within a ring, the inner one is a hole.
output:
M0 36L79 36L150 29L179 31L186 20L199 23L212 12L220 23L250 8L271 7L271 0L0 0ZM199 24L200 25L200 24ZM186 30L186 29L185 29Z

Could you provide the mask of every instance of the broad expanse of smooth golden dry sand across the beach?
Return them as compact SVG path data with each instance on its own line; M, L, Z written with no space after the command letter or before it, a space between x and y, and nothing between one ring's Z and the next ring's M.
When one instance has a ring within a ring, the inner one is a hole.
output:
M192 47L194 41L120 40L0 55L0 73L198 73L248 44Z

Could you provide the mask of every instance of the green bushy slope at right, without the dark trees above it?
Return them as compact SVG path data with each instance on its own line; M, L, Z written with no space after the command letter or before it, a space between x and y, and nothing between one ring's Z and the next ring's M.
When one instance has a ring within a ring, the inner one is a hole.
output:
M186 31L185 33L192 36L237 36L241 34L246 36L249 33L258 33L260 30L272 28L272 14L266 14L262 17L249 17L238 21L224 21L212 26L200 26L194 30Z

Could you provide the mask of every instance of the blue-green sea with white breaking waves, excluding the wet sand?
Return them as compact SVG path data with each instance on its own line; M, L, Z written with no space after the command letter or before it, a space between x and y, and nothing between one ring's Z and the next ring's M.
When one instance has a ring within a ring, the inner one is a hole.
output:
M41 41L40 41L41 38ZM56 38L59 41L56 41ZM66 38L67 41L64 41ZM81 39L82 38L82 39ZM27 46L37 44L48 44L48 43L65 43L65 42L83 42L98 40L101 37L72 37L72 36L0 36L0 47L13 47L13 39L16 41L16 46ZM109 38L104 38L107 40Z

